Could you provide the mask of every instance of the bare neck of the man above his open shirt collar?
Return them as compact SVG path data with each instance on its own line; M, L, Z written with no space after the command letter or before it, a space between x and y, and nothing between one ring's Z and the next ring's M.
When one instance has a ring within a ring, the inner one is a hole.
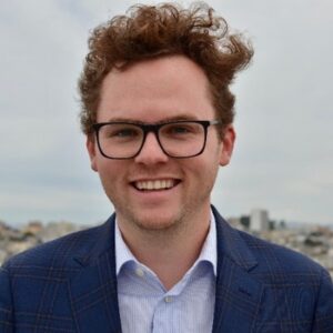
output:
M137 260L150 268L170 290L198 259L209 232L210 212L168 230L142 230L121 219L118 224Z

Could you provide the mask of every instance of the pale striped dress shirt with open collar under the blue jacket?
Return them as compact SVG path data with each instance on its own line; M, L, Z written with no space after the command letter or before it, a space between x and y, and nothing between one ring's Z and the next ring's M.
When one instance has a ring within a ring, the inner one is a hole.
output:
M208 236L191 269L171 290L140 263L115 223L115 263L123 333L212 331L216 279L216 226L211 213Z

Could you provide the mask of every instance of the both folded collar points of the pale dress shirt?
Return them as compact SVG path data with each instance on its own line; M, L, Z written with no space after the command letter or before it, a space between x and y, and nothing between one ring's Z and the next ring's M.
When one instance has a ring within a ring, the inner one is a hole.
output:
M131 250L128 248L125 242L122 239L121 232L118 226L117 218L115 218L115 268L117 275L119 274L121 268L128 262L135 262L138 264L139 261L135 259ZM192 268L196 266L200 262L210 262L213 266L214 275L216 276L216 224L214 214L211 211L211 220L210 220L210 230L206 235L206 239L203 243L199 258ZM190 269L191 270L191 269Z

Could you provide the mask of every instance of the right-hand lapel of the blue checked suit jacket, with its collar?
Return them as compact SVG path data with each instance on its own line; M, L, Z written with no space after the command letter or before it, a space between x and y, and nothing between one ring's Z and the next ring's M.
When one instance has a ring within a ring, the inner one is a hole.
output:
M263 285L250 275L258 262L242 240L213 208L218 232L218 276L213 333L253 332Z

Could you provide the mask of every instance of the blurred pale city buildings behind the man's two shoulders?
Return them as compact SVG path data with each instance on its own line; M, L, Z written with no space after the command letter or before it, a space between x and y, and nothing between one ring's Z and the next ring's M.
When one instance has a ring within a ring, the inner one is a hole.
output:
M326 268L333 278L333 229L317 224L294 226L274 221L266 210L229 218L228 222L246 233L305 254ZM92 226L92 225L91 225ZM10 256L83 228L78 223L30 221L19 228L0 221L0 265Z

